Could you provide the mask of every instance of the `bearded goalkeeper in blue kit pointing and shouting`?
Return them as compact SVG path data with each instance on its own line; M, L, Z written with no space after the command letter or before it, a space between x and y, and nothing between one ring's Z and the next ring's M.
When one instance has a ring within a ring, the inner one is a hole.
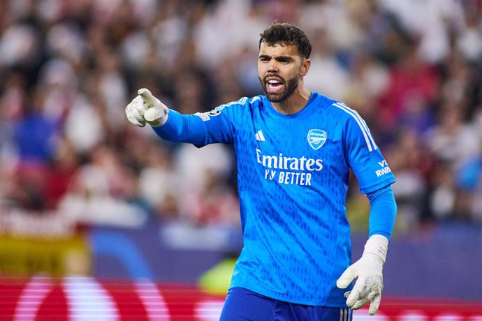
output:
M235 149L244 248L221 320L351 320L369 301L370 315L379 308L395 178L358 113L305 88L310 53L303 31L272 24L259 41L265 95L184 115L140 89L126 107L132 124L165 140ZM370 200L370 234L354 264L350 168Z

